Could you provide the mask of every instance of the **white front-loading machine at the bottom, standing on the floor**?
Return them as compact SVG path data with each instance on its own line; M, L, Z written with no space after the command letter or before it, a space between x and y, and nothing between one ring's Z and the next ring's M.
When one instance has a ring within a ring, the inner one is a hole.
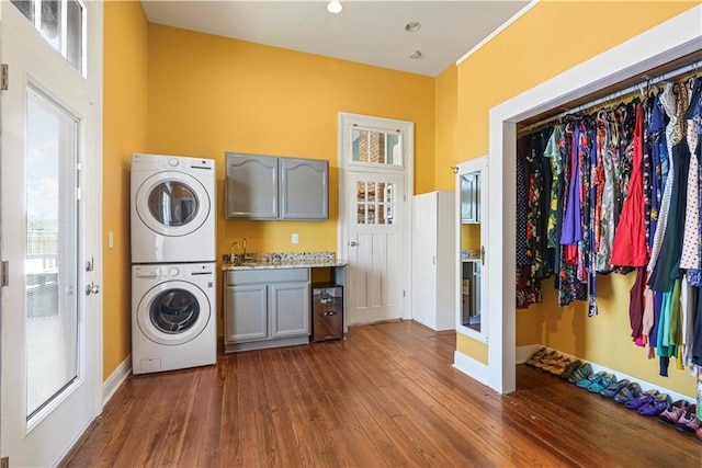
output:
M215 263L132 265L132 370L217 362Z

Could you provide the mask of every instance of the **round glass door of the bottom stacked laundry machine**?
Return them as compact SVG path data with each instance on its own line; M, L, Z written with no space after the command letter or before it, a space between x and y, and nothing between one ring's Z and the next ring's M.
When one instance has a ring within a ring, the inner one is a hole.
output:
M210 321L207 296L192 283L172 281L148 290L139 301L137 322L152 342L177 346L194 340Z

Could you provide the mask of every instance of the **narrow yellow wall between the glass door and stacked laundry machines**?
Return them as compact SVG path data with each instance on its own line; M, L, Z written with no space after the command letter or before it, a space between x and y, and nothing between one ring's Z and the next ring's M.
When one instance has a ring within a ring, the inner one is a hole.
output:
M147 144L148 23L139 1L104 3L103 378L132 352L129 165ZM107 232L114 232L114 248Z

